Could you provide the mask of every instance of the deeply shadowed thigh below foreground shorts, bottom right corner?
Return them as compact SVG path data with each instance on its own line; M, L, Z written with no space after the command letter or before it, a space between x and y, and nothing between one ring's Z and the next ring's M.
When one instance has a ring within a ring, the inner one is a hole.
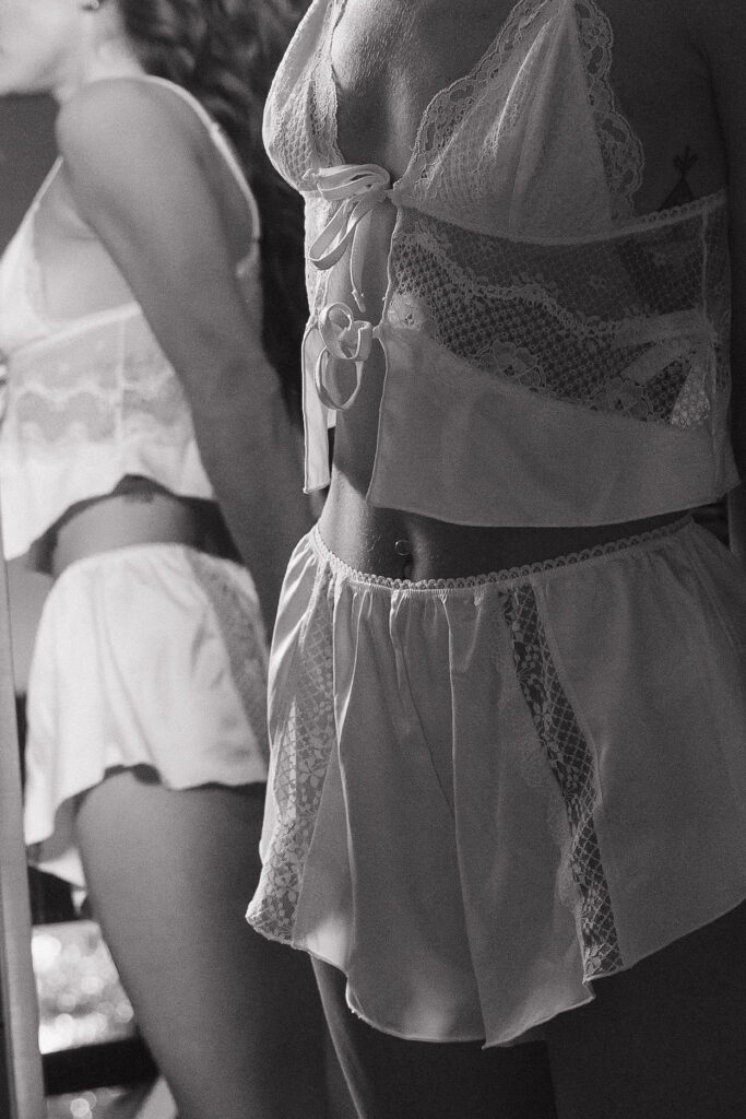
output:
M560 1119L743 1119L745 946L742 905L550 1023Z

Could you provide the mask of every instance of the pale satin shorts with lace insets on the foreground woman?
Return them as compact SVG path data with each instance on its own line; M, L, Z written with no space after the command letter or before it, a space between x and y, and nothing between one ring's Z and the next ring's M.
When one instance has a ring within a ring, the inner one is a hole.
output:
M389 1033L509 1044L746 896L746 591L691 523L368 576L318 533L270 683L259 932Z

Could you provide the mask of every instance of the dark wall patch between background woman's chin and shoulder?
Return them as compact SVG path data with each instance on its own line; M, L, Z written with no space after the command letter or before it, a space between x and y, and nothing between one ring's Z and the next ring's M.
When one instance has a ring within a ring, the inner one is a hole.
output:
M54 161L56 109L49 97L0 97L0 250Z

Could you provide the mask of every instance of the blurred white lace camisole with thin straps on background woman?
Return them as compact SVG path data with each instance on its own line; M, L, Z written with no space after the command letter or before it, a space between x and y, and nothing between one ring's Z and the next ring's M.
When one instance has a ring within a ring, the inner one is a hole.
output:
M254 243L237 266L261 329L259 215L219 125L180 86L143 75L183 97L204 122L246 198ZM45 307L35 217L57 159L0 261L0 502L8 558L23 555L76 501L108 493L128 474L182 497L213 497L182 385L136 301L74 319ZM101 246L102 269L112 262Z

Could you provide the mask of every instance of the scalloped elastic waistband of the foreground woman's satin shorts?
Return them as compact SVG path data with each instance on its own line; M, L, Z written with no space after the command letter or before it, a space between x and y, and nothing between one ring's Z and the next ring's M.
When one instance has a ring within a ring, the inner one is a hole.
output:
M474 587L487 585L514 586L517 583L530 581L536 575L556 571L563 567L574 567L593 563L598 560L606 560L620 553L632 553L644 551L660 542L670 539L679 533L693 525L692 517L687 514L683 517L672 520L668 525L659 528L651 528L646 533L638 533L634 536L620 537L617 540L608 540L605 544L597 544L591 548L583 548L579 552L569 552L565 555L554 556L551 560L541 560L537 563L523 564L520 567L506 567L502 571L491 571L482 575L465 575L460 579L388 579L385 575L374 575L369 572L357 571L349 564L340 560L338 555L329 549L324 544L319 526L315 525L309 533L308 540L317 554L318 558L328 564L329 567L343 575L353 583L366 583L369 586L387 587L391 591L460 591L473 590Z

